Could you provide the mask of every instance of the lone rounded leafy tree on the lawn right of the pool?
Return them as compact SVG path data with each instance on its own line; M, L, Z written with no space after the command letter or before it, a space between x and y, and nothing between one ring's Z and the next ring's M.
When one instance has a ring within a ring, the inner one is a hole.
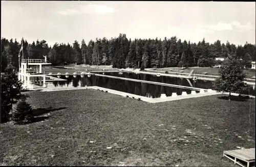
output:
M239 59L229 57L223 62L218 72L219 77L214 82L216 91L242 93L246 87L244 82L245 73L243 73Z

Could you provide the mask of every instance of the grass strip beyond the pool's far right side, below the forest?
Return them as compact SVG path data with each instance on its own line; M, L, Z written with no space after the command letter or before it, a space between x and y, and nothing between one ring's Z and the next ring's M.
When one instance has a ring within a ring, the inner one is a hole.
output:
M168 71L170 69L174 69L176 71L181 70L182 68L159 68L158 70ZM184 70L184 73L190 73L191 70L197 73L208 72L208 75L218 75L218 68L204 68L204 67L189 67L188 69ZM255 76L255 71L243 70L246 74L247 78L251 78Z

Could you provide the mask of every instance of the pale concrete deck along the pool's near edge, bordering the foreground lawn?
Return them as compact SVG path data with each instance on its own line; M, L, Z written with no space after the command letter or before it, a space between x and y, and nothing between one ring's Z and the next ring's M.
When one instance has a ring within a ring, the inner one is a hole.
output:
M112 89L97 87L97 86L76 87L76 88L56 88L56 89L40 88L40 91L42 91L42 92L52 92L52 91L83 90L83 89L93 89L93 90L98 90L98 91L103 91L103 92L107 91L107 93L112 93L112 94L127 97L127 98L134 98L134 99L145 101L145 102L148 102L148 103L159 103L159 102L182 100L182 99L188 99L188 98L195 98L195 97L203 97L203 96L211 96L211 95L222 94L222 93L219 93L219 92L216 92L216 91L210 91L210 92L204 92L204 93L178 95L176 97L168 96L168 97L164 97L164 98L149 98L149 97L139 96L139 95L125 93L125 92L121 92L121 91L116 91L116 90L112 90ZM38 90L39 90L39 88L38 88Z

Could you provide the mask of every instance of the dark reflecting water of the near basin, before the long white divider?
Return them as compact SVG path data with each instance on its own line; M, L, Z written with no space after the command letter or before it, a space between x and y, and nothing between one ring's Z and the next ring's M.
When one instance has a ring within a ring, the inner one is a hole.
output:
M64 78L64 76L61 76ZM67 81L53 81L48 82L49 88L74 88L74 87L85 87L85 86L98 86L102 88L108 88L112 90L117 90L121 92L131 93L135 95L158 98L161 94L166 94L166 96L172 96L172 93L177 93L177 95L181 95L182 92L187 92L187 94L191 93L191 90L188 89L180 89L175 87L166 87L160 85L146 84L142 82L134 82L130 80L123 79L115 79L101 76L91 77L73 77L70 76L66 78ZM196 91L199 93L199 91Z

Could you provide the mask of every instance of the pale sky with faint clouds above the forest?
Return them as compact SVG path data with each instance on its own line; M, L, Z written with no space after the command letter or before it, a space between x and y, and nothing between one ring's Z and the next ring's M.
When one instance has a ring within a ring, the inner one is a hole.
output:
M1 1L1 37L29 43L176 36L255 44L255 2Z

